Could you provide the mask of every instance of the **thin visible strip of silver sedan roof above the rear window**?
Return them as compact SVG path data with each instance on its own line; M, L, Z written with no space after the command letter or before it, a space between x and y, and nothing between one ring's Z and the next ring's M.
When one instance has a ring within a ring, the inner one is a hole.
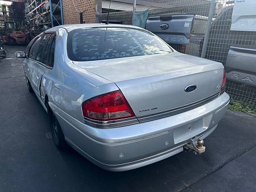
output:
M68 32L76 30L78 28L92 28L92 27L124 27L124 28L138 28L137 26L129 26L125 24L105 24L105 23L85 23L85 24L64 24L57 27L52 27L46 30L46 32L57 31L59 28L65 28Z

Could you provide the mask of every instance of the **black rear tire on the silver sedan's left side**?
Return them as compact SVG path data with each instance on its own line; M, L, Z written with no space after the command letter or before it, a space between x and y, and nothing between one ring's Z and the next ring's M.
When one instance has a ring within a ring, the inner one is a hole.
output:
M50 116L50 126L52 139L56 145L56 147L60 150L63 150L67 147L67 143L65 141L65 137L63 131L61 130L60 124L56 118L56 116L51 112Z

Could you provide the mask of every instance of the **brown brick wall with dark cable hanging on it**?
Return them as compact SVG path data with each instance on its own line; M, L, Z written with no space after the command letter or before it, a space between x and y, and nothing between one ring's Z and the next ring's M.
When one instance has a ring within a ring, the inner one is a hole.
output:
M75 2L76 9L82 11L86 9L82 14L84 23L96 22L96 0L73 0ZM79 12L76 11L72 0L62 0L63 5L63 20L64 24L80 23Z

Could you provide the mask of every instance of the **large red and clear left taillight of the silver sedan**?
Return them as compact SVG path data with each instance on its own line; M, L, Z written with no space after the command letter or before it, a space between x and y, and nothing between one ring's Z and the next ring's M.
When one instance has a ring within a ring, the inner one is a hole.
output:
M135 116L121 91L113 91L82 103L82 114L95 120L115 120Z

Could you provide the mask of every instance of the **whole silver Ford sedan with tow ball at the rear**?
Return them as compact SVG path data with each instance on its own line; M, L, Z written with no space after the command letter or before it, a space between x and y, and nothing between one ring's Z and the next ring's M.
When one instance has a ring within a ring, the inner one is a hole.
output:
M28 90L49 114L56 146L107 170L203 153L229 103L220 62L179 53L139 27L58 26L16 57L25 58Z

